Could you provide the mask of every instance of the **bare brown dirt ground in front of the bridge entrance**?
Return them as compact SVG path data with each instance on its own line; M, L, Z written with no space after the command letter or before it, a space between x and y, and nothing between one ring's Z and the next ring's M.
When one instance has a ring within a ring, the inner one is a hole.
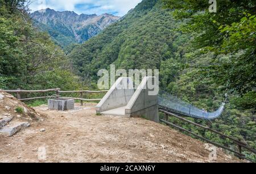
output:
M44 121L13 137L0 135L0 162L240 162L221 150L210 161L204 143L165 125L96 116L95 104L65 112L34 109L46 115Z

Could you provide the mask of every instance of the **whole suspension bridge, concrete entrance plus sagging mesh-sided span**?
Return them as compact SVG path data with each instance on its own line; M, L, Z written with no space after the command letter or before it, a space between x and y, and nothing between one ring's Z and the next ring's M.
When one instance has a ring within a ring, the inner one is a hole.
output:
M225 101L215 112L208 112L188 104L178 97L159 91L158 95L149 95L148 82L154 77L143 78L141 84L134 91L131 78L119 78L108 93L97 105L98 114L112 114L118 116L144 116L152 121L159 121L158 110L175 113L180 116L213 120L221 116L225 108Z

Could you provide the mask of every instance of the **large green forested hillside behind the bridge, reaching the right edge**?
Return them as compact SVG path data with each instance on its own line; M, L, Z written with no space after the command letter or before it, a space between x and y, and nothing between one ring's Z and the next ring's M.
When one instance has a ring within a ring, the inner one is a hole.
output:
M98 79L97 71L108 69L112 63L126 70L160 69L162 90L208 111L217 109L224 94L228 93L230 103L221 118L213 122L192 120L225 134L245 138L249 146L255 148L256 59L253 11L246 11L251 12L250 15L240 11L240 16L230 20L229 16L234 15L228 14L234 8L232 5L230 9L224 6L226 11L216 15L196 9L197 1L192 1L195 6L188 5L182 11L184 6L179 5L185 5L185 2L142 1L121 21L86 43L75 46L69 55L74 69L84 80L92 80L94 83ZM208 10L208 1L203 4L204 10ZM255 8L253 3L250 5ZM180 8L180 13L175 8ZM186 14L190 11L195 12L195 19ZM218 19L225 20L221 25L214 26ZM229 23L225 25L226 21ZM245 27L236 30L240 23ZM221 33L218 28L229 30L230 37L224 37L228 34ZM244 40L247 37L248 44ZM229 51L220 49L221 45L226 45ZM172 122L213 141L225 145L230 143L208 131L181 124L177 120Z

